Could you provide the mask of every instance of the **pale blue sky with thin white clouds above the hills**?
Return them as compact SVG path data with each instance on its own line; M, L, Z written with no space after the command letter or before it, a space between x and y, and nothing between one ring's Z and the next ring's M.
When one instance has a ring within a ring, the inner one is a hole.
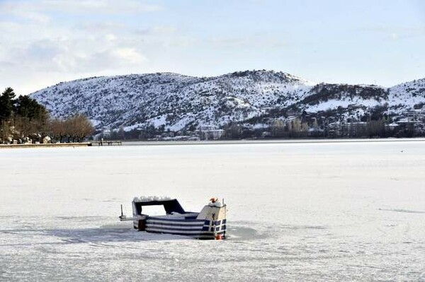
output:
M424 78L425 1L0 0L0 90L246 69L382 86Z

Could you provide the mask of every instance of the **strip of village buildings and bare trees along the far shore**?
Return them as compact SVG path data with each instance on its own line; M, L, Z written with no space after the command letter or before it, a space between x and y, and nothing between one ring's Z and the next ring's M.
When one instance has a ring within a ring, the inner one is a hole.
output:
M235 139L319 139L319 138L388 138L425 136L425 110L404 112L395 120L381 118L365 122L346 122L334 117L288 117L271 119L262 127L231 123L227 127L201 125L194 130L171 131L152 124L125 131L103 128L95 139L146 141L201 141Z

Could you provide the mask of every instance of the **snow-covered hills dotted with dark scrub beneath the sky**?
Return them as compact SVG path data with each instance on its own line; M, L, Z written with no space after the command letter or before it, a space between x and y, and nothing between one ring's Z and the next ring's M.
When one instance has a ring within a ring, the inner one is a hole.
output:
M131 74L59 83L31 94L54 117L81 112L97 129L154 125L179 131L230 122L261 127L290 115L365 119L425 105L425 79L392 88L314 84L276 71L238 71L215 77L180 74ZM425 108L424 108L425 109Z

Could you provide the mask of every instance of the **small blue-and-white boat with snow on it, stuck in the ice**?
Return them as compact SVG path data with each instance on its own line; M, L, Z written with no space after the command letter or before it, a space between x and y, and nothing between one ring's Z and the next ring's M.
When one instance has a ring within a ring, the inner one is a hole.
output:
M163 206L166 214L144 214L144 206ZM226 238L226 211L226 205L217 198L210 199L199 213L195 213L185 211L177 199L141 196L132 201L132 218L123 214L123 205L119 218L120 221L133 221L133 227L139 231L221 240Z

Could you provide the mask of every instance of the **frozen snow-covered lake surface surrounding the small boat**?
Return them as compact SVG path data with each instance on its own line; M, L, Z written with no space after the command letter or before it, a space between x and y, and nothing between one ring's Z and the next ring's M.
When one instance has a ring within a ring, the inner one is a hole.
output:
M0 150L0 281L425 281L425 141ZM134 196L228 205L138 233Z

